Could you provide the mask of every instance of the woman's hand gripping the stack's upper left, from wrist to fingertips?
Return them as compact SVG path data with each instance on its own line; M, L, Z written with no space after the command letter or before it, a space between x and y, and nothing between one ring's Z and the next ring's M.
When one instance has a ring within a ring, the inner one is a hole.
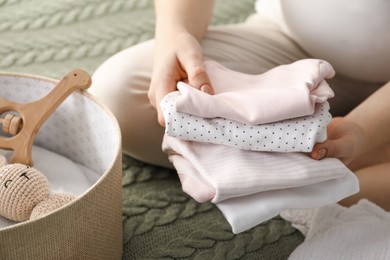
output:
M157 40L156 45L148 97L157 109L160 125L165 126L160 101L165 95L176 90L178 81L185 81L209 94L213 94L213 90L203 66L202 49L194 36L183 32L166 42Z

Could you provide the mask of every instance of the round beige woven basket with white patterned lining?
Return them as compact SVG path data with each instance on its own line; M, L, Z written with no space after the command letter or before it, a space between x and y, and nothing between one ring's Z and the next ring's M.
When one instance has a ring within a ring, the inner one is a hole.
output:
M56 83L0 73L0 97L31 102ZM77 200L51 214L0 228L0 259L120 259L121 138L110 111L88 93L75 92L47 119L34 144L101 176Z

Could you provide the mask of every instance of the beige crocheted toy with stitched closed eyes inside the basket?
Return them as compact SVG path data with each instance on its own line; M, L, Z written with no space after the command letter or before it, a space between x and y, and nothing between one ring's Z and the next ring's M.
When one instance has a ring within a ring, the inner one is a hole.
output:
M49 181L35 168L7 164L0 155L0 216L13 221L40 218L76 197L50 194Z

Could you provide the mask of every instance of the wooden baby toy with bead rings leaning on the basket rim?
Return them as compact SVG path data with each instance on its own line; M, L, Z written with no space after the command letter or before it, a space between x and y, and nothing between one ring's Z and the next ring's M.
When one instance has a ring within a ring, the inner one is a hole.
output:
M76 69L63 77L58 84L40 100L31 103L15 103L0 97L0 114L15 111L19 116L7 114L0 119L3 132L9 138L0 137L0 147L13 150L12 163L32 165L31 149L39 128L50 114L75 90L84 90L91 85L91 77Z

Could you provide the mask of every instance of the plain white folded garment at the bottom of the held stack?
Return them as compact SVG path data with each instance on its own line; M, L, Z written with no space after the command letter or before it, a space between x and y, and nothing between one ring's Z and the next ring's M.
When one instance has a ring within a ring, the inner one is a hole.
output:
M344 177L302 187L259 192L216 203L233 233L248 230L267 221L285 209L317 208L336 203L359 191L352 172Z

